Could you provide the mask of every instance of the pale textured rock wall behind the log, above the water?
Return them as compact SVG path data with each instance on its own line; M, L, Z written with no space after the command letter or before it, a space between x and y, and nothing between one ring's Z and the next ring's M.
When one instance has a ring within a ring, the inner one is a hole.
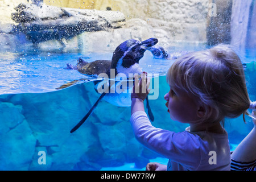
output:
M10 34L17 24L11 20L14 7L26 0L1 0L0 36L1 51L13 50L23 46L22 51L61 51L61 52L96 52L114 51L115 47L127 40L144 40L150 37L159 39L159 46L174 47L179 43L207 43L213 46L218 43L231 43L241 52L246 48L255 48L253 41L256 34L254 20L254 1L233 0L96 0L96 1L44 1L44 5L72 7L79 9L96 9L121 12L126 22L122 28L97 32L84 32L79 36L61 40L49 40L33 44L26 36L16 32ZM35 3L35 1L29 1ZM37 2L37 1L36 1ZM210 3L216 5L216 16L210 16ZM31 46L32 45L32 46ZM18 50L20 51L20 50Z

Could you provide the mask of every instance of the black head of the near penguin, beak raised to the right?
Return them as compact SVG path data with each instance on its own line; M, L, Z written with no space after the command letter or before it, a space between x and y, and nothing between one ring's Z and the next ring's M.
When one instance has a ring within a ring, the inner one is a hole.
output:
M122 61L123 68L130 68L131 65L139 63L139 60L144 56L144 52L156 43L158 43L156 38L150 38L143 42L134 39L126 40L115 49L111 68L116 68L118 61Z

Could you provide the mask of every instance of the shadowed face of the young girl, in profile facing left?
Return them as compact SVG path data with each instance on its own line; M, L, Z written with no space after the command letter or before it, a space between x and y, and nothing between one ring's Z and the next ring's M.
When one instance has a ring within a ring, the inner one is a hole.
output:
M184 90L170 86L170 91L164 96L164 100L167 101L167 111L172 120L190 124L199 122L200 106L196 103L196 98L189 96Z

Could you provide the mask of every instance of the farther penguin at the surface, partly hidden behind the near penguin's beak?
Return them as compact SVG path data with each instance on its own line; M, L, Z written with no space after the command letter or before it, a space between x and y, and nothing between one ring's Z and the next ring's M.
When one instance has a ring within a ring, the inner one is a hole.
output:
M150 47L148 51L152 53L154 59L169 59L169 60L178 59L179 57L189 53L189 51L167 53L166 50L164 50L164 48L160 46Z

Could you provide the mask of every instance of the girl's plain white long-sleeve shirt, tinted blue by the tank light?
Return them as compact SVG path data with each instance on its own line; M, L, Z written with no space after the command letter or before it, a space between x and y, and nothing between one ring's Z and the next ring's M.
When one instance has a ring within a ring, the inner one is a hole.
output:
M133 113L130 123L139 142L170 159L167 170L230 170L228 134L158 129L144 111Z

